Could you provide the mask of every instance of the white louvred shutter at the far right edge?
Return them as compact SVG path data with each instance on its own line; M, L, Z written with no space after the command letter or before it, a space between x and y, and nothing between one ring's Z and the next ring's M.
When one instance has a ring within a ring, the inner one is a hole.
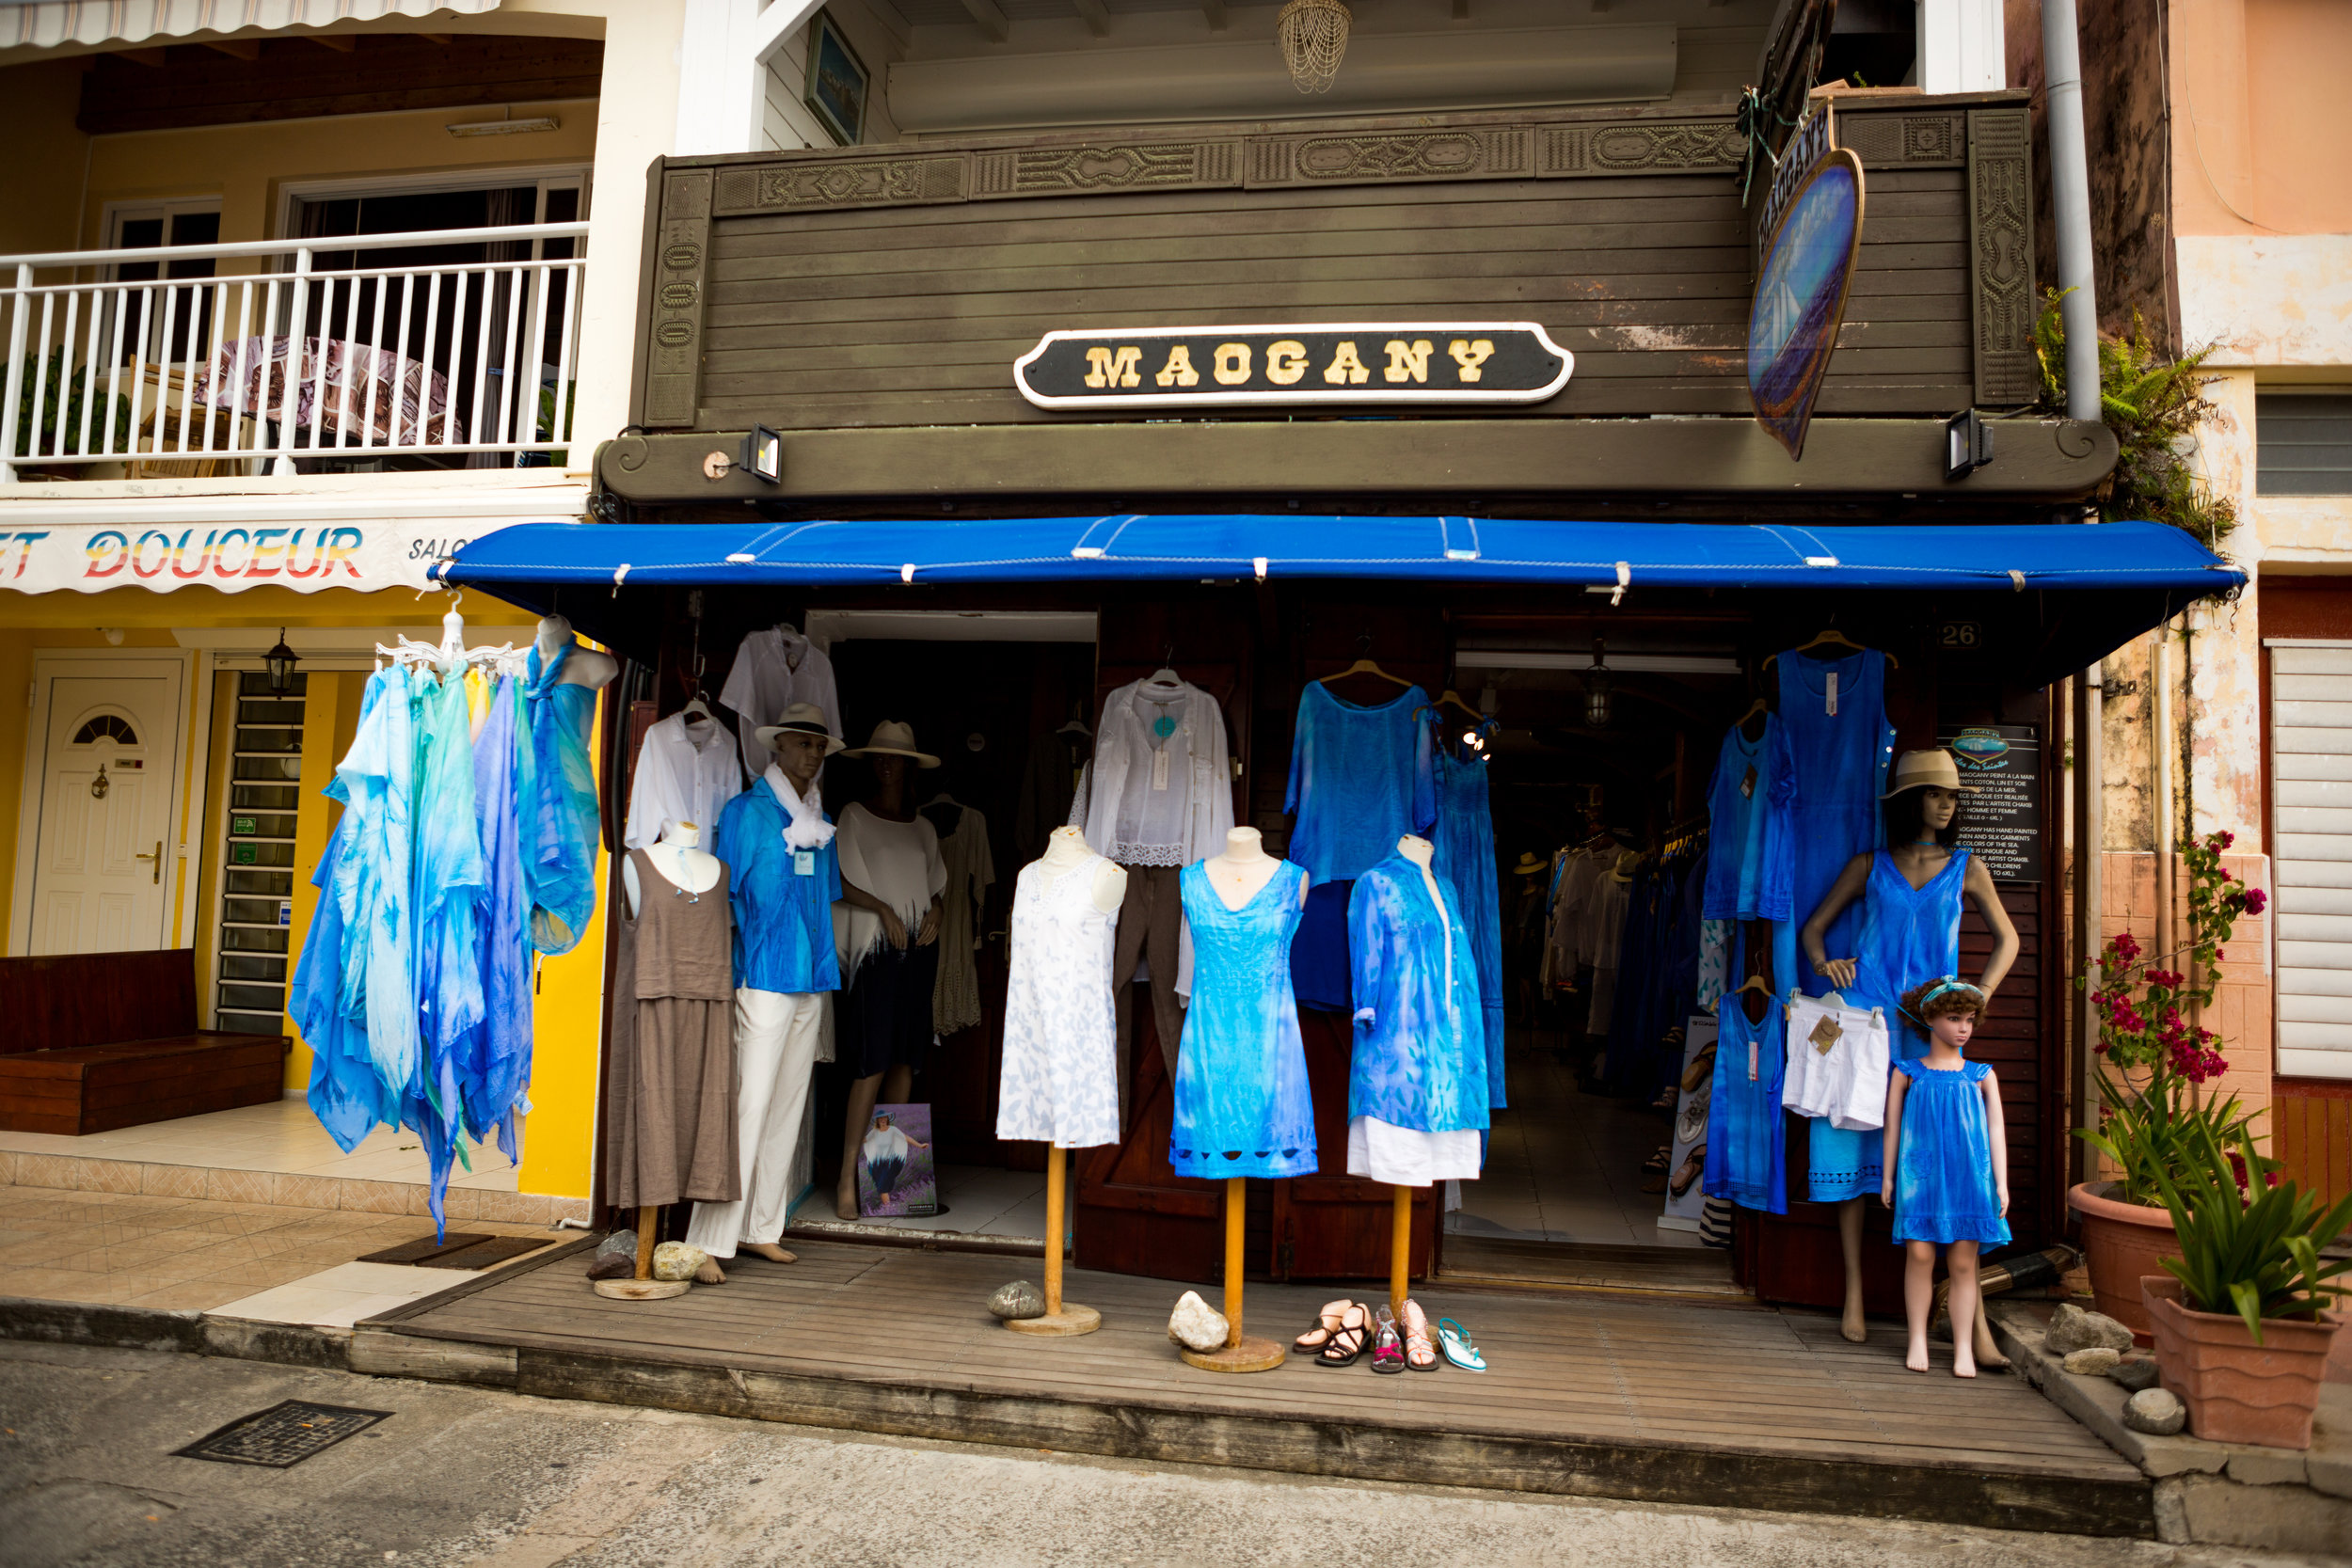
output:
M2352 1079L2352 642L2270 649L2279 1072Z

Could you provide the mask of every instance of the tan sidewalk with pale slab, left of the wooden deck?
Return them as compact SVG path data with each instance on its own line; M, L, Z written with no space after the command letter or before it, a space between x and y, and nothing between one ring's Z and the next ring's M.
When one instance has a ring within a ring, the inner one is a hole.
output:
M466 1220L463 1229L562 1237L546 1225L496 1220ZM379 1305L358 1316L470 1279L456 1269L400 1269L402 1279L372 1272L386 1265L367 1265L360 1274L343 1269L362 1253L430 1232L430 1218L407 1213L12 1185L0 1187L0 1265L7 1269L0 1295L212 1312L270 1291L275 1300L235 1316L332 1324L362 1298ZM313 1279L327 1269L336 1276ZM280 1286L294 1286L299 1298Z

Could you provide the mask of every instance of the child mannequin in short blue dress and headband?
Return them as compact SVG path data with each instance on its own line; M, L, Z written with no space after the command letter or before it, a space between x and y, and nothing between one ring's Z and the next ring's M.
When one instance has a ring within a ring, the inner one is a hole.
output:
M1955 976L1903 994L1903 1023L1926 1056L1896 1063L1886 1084L1886 1161L1879 1199L1903 1244L1903 1366L1926 1371L1926 1319L1936 1300L1936 1248L1952 1274L1952 1375L1976 1375L1976 1251L2009 1241L2009 1138L2002 1084L1964 1056L1985 992ZM1900 1197L1898 1197L1900 1194Z

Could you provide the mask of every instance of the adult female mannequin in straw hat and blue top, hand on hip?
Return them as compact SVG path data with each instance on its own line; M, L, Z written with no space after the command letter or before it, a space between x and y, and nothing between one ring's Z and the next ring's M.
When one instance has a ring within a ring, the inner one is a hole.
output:
M1952 752L1940 748L1903 752L1882 802L1886 849L1853 856L1799 933L1813 973L1837 987L1851 1006L1884 1006L1889 1023L1905 990L1936 976L1959 973L1962 900L1973 903L1992 931L1992 952L1978 976L1987 1009L2018 957L2018 929L2002 907L1992 872L1966 849L1957 849L1959 790ZM1853 903L1863 905L1856 952L1832 959L1825 947L1828 931ZM1891 1044L1896 1056L1917 1056L1917 1041ZM1863 1145L1872 1143L1870 1133L1856 1138ZM1877 1180L1872 1175L1867 1185ZM1860 1345L1865 1338L1860 1197L1837 1206L1837 1239L1846 1260L1846 1309L1839 1331ZM1992 1345L1983 1312L1976 1312L1976 1359L1983 1366L2009 1363Z

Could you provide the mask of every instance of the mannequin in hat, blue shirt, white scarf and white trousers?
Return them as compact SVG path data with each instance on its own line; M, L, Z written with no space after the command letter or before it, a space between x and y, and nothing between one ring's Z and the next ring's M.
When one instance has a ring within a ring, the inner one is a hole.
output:
M793 703L776 724L753 731L774 762L720 811L713 849L727 863L734 905L736 1138L743 1197L696 1204L687 1241L710 1253L703 1284L736 1248L793 1262L779 1246L793 1194L786 1190L809 1077L823 1046L826 992L840 990L833 900L842 896L835 830L816 771L842 750L814 703Z

